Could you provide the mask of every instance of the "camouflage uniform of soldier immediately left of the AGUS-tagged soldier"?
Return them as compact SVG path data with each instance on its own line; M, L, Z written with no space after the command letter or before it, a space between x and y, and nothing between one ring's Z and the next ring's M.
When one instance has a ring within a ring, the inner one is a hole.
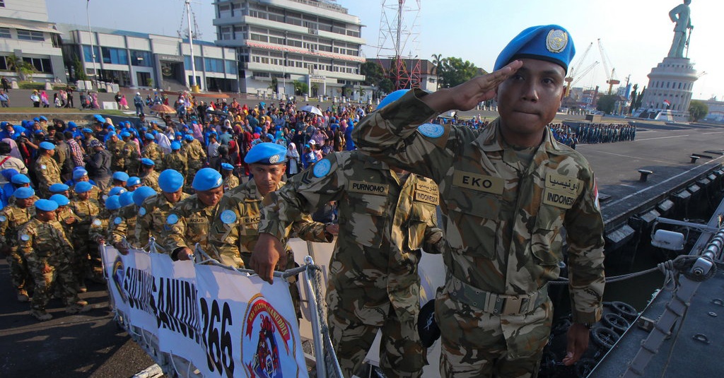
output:
M181 193L179 201L189 197L188 193ZM166 248L168 241L164 239L162 231L172 207L174 207L174 203L170 203L163 193L148 197L141 203L135 226L135 239L138 240L138 243L146 245L148 238L153 237L156 238L156 243L161 245L161 248Z

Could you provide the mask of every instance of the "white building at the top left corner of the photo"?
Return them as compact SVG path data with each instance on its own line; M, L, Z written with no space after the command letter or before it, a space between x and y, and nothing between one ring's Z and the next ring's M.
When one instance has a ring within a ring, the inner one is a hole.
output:
M21 80L20 62L32 64L27 72L35 81L65 77L59 46L60 32L48 22L45 0L0 0L0 75Z

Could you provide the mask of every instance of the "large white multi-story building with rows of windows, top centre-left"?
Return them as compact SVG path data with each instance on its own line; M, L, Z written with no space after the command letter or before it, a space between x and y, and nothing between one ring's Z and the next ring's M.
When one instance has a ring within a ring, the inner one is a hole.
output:
M342 96L361 84L359 17L324 0L216 0L216 44L233 47L242 93Z

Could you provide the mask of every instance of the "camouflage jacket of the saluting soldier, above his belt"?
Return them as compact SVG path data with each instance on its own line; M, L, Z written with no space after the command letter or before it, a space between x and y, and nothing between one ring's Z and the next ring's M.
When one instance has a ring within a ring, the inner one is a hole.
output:
M503 142L500 119L482 130L425 124L437 114L416 96L424 92L369 114L353 138L362 151L439 184L448 273L492 293L534 293L559 277L566 235L573 321L597 322L604 224L584 156L547 130L526 167Z

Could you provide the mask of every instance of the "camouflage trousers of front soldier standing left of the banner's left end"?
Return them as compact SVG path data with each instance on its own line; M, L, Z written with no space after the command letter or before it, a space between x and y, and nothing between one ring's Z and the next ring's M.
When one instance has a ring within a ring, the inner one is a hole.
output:
M49 264L50 272L43 273L43 266ZM78 298L78 285L73 276L70 264L67 261L48 261L48 259L38 259L33 264L28 264L30 274L35 281L35 292L33 300L30 302L30 308L33 310L45 310L48 302L53 296L54 285L59 285L62 293L63 301L66 306L80 301Z

